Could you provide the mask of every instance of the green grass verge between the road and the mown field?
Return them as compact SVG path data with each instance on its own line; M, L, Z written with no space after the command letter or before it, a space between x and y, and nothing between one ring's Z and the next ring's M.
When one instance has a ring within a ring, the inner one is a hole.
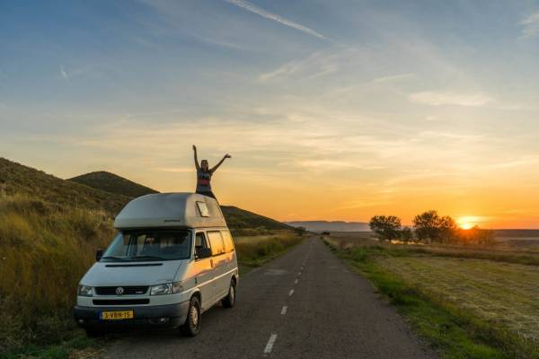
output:
M429 294L381 265L384 258L404 256L402 250L386 250L383 246L338 249L335 243L325 243L376 285L420 337L427 339L443 357L539 358L539 349L533 343L508 333L503 326L494 326L471 315L439 295Z

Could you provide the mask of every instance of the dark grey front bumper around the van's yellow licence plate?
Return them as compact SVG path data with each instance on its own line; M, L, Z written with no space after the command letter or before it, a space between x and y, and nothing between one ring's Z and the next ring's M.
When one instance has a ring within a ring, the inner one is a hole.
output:
M101 320L102 311L133 311L132 320ZM175 328L187 318L189 301L178 304L132 307L75 306L73 314L83 328Z

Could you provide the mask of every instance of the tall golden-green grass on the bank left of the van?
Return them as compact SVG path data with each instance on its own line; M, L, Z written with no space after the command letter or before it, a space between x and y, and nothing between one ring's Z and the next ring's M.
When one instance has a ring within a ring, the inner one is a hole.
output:
M102 211L0 200L0 352L69 337L76 285L113 233Z

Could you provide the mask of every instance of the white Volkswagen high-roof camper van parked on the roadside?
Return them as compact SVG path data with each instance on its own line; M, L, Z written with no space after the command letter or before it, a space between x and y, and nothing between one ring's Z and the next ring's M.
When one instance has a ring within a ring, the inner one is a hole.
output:
M192 193L139 197L78 286L75 320L90 336L115 327L200 330L216 302L234 306L238 266L217 201Z

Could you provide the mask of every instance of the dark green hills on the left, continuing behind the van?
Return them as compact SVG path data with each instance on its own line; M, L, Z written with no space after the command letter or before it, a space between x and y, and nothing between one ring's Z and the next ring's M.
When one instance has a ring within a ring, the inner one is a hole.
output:
M110 216L134 197L158 193L114 173L97 171L62 180L43 171L0 157L0 194L24 195L64 208L78 206L102 209ZM235 206L221 206L228 226L235 232L245 229L290 230L285 223Z

